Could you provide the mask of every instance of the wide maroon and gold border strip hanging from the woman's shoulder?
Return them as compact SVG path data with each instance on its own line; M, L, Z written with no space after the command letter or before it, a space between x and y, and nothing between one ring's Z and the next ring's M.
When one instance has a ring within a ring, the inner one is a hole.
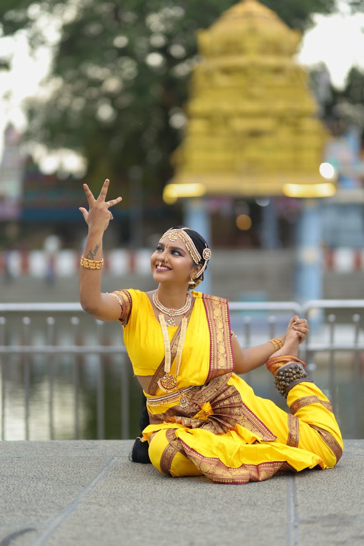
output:
M210 367L206 382L213 377L234 371L228 300L202 294L210 331Z

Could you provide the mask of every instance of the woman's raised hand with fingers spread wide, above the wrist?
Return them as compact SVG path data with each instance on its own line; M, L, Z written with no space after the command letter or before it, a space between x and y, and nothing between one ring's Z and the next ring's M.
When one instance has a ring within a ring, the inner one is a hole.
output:
M97 199L93 197L91 189L89 189L87 184L83 184L83 189L85 190L88 201L88 211L84 207L79 207L79 210L82 212L83 218L85 218L88 230L92 229L94 231L104 232L108 227L110 220L114 218L109 209L111 206L120 203L122 198L117 197L116 199L105 201L109 183L109 179L106 179Z

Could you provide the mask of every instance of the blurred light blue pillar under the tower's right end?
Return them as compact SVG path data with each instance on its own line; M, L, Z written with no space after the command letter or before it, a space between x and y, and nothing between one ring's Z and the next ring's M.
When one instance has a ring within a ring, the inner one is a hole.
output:
M295 299L301 304L323 297L321 205L303 199L297 223Z

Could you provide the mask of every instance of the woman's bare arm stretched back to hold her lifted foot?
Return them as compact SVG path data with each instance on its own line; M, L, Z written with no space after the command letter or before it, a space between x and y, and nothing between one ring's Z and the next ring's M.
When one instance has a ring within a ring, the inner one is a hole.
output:
M300 319L295 315L289 321L287 333L284 336L279 337L282 341L282 345L285 341L285 336L291 331L295 330L297 336L300 338L300 343L306 339L309 328L308 323L305 319ZM248 347L247 349L242 349L235 335L231 338L232 353L234 354L234 371L235 373L247 373L259 366L262 366L266 363L268 358L272 356L273 353L277 351L275 346L271 341L267 341L262 345L256 347Z

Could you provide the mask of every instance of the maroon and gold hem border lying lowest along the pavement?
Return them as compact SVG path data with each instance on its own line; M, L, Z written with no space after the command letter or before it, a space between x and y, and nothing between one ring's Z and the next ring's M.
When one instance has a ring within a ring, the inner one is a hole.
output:
M195 449L190 448L183 440L181 444L184 453L204 475L214 483L246 484L248 482L262 482L271 478L279 471L293 471L295 469L287 461L267 461L254 464L242 464L238 468L226 466L216 457L205 457Z

